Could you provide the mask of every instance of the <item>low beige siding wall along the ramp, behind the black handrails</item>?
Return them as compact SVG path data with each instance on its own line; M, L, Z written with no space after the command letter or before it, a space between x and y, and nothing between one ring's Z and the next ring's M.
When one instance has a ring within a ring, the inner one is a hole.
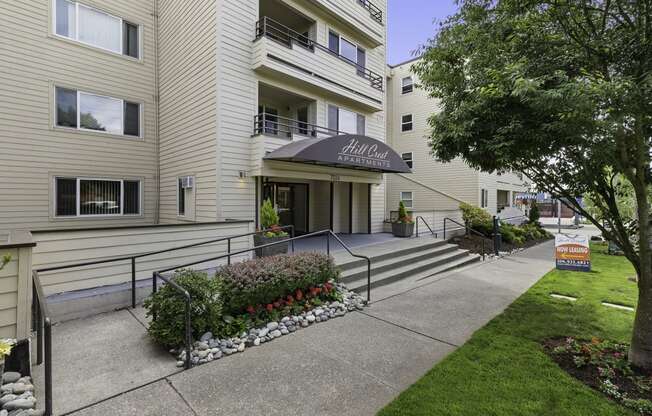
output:
M148 253L253 231L251 223L188 224L156 227L34 233L34 269ZM231 251L252 247L251 236L234 239ZM136 278L184 263L217 257L227 251L226 241L138 259ZM238 258L248 258L242 255ZM235 259L235 257L234 257ZM203 263L206 268L223 261ZM39 274L46 295L131 281L131 262L121 261ZM0 294L0 296L2 296ZM2 300L0 299L0 304Z

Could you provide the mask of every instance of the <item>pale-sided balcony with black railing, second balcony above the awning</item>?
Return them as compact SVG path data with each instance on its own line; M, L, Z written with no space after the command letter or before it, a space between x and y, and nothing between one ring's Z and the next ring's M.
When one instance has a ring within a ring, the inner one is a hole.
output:
M252 68L276 78L290 77L369 112L383 109L384 75L318 43L309 32L267 16L256 23Z

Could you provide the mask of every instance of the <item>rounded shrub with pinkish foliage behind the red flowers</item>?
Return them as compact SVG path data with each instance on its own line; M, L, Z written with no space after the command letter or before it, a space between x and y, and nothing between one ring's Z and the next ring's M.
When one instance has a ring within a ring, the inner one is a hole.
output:
M261 257L217 272L224 284L225 310L231 315L338 277L333 260L319 253Z

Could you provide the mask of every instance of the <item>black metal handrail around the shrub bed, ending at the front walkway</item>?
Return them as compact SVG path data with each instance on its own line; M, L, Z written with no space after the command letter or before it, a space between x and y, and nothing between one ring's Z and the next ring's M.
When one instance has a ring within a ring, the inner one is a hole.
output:
M344 247L344 249L351 256L357 257L357 258L360 258L360 259L364 259L364 260L367 261L367 303L369 303L371 301L371 259L369 257L363 256L361 254L355 254L351 250L351 248L349 246L347 246L346 243L344 243L344 241L342 241L332 230L316 231L316 232L309 233L309 234L304 234L304 235L301 235L301 236L298 236L298 237L292 237L292 238L289 238L289 239L275 241L275 242L268 243L268 244L262 244L260 246L255 246L255 247L251 247L251 248L248 248L248 249L244 249L244 250L234 252L234 253L232 253L232 255L245 254L245 253L255 251L255 250L258 250L258 249L273 247L273 246L276 246L276 245L279 245L279 244L287 244L288 242L294 243L294 241L296 241L296 240L301 240L301 239L310 238L310 237L316 237L316 236L320 236L320 235L326 235L326 253L328 255L330 255L330 237L332 236L332 237L335 238L335 240L338 243L340 243L342 245L342 247ZM292 245L292 251L294 252L294 244ZM172 279L166 278L165 276L163 276L163 273L167 273L167 272L170 272L170 271L173 271L173 270L183 269L183 268L194 266L194 265L201 264L201 263L207 263L209 261L221 260L221 259L224 259L225 257L226 257L226 255L211 257L209 259L193 261L193 262L190 262L190 263L186 263L186 264L182 264L182 265L178 265L178 266L174 266L174 267L169 267L169 268L166 268L166 269L163 269L163 270L158 270L158 271L155 271L155 272L152 273L152 293L156 293L156 291L158 290L158 283L157 283L158 279L162 279L163 281L165 281L167 283L172 283L173 284L172 287L177 292L179 292L179 294L181 294L184 297L184 300L185 300L185 316L184 316L185 337L184 338L185 338L185 344L186 344L185 345L185 348L186 348L186 360L184 362L184 367L186 369L188 369L188 368L190 368L192 366L192 361L190 359L190 355L191 355L191 351L192 351L192 322L191 322L191 317L190 317L190 308L191 308L192 299L191 299L190 294L188 293L188 291L183 289L178 284L174 283L174 281ZM156 320L156 311L153 311L152 319Z

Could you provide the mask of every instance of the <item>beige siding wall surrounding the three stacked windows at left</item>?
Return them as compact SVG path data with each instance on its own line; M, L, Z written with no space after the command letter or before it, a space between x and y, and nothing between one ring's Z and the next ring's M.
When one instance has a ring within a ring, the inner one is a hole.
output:
M142 60L52 35L51 1L4 4L0 14L0 229L128 225L155 219L153 3L83 3L142 25ZM143 139L53 128L54 85L140 102ZM54 219L53 175L140 178L143 216Z

